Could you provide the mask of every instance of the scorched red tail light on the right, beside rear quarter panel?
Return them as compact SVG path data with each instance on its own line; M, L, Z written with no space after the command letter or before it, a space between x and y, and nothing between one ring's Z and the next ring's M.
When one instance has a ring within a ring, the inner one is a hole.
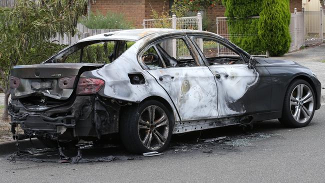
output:
M97 78L79 78L76 93L81 94L93 94L100 90L105 81Z

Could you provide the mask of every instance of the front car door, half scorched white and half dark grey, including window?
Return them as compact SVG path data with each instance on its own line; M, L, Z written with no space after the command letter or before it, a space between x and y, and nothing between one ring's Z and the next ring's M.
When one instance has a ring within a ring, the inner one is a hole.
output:
M238 50L225 46L215 37L192 38L193 42L199 42L196 48L215 78L219 117L271 109L272 83L264 66L257 63L254 68L248 68Z

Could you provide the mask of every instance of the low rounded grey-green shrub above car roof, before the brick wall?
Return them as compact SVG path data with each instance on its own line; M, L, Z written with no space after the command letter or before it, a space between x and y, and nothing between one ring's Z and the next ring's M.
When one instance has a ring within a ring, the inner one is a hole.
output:
M122 13L114 13L108 11L106 15L90 12L89 17L80 20L88 28L101 28L101 29L128 29L133 28L131 21L125 19Z

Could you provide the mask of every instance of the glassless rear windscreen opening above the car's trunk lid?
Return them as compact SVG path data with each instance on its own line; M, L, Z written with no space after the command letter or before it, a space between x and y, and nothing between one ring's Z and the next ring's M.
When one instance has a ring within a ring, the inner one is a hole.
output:
M111 63L134 43L126 40L79 42L61 50L45 63Z

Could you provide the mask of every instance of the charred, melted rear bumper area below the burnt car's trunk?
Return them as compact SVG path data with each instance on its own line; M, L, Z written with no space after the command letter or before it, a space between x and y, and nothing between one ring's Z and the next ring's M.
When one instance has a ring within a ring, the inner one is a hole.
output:
M36 98L11 100L9 113L13 134L15 127L20 125L26 137L100 139L102 135L118 132L120 107L125 105L122 101L88 95L75 96L73 102L56 104L44 110L44 106L28 104L35 103ZM38 97L41 99L44 98ZM38 108L41 110L37 111Z

